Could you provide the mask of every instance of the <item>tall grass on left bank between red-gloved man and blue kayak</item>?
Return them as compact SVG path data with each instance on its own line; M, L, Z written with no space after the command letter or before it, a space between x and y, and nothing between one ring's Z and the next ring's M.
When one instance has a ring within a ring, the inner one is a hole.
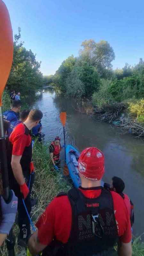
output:
M63 179L61 172L56 172L52 168L49 152L49 144L35 142L33 148L33 160L36 167L36 181L33 192L39 199L33 213L40 215L47 204L60 192L67 192L70 188L68 182Z

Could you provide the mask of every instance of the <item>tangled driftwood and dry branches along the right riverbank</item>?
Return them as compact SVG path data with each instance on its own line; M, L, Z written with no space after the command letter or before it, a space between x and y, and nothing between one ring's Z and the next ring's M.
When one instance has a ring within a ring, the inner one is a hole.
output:
M77 111L93 117L96 121L107 122L119 127L124 133L136 138L144 137L144 100L104 104L98 107L90 100L77 104Z

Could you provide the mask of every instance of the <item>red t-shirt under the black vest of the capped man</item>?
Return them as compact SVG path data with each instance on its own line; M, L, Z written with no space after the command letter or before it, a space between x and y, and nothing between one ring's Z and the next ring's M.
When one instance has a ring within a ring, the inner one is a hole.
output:
M101 189L79 189L88 198L96 198L101 193ZM129 243L132 239L132 233L126 205L120 195L114 191L111 191L111 195L114 203L118 236L122 242ZM36 223L39 242L48 245L55 237L63 244L67 243L71 231L71 224L72 209L68 196L55 197Z

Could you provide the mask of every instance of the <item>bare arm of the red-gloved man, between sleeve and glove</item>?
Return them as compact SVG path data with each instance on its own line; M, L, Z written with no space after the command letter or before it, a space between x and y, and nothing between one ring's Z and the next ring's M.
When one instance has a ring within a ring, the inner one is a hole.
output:
M22 173L20 159L21 159L21 156L12 155L11 165L12 165L12 171L15 179L17 180L19 185L23 185L25 183L25 178Z

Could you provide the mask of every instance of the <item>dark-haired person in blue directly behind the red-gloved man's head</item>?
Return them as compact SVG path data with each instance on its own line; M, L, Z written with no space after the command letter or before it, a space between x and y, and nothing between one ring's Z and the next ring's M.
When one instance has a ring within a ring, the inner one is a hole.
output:
M10 123L10 127L7 131L7 134L8 134L8 137L10 137L11 133L13 132L14 128L20 124L20 123L23 123L26 121L26 119L28 118L28 114L29 114L29 110L27 109L24 109L21 111L20 113L20 120L17 120L17 121L13 121Z

